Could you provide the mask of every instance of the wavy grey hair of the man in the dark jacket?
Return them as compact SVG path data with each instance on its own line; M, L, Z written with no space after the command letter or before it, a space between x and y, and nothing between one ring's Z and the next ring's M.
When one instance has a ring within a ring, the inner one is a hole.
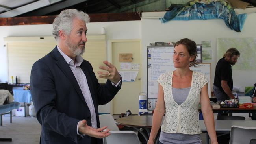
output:
M70 34L73 27L72 22L75 18L83 20L85 23L90 21L90 17L87 13L76 9L65 9L54 19L52 23L52 34L57 41L59 39L60 30L63 30L67 35Z

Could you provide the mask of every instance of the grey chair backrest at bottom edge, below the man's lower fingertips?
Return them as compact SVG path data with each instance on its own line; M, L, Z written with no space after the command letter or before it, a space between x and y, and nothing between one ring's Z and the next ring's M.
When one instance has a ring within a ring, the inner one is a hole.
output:
M141 144L134 131L109 131L104 144Z

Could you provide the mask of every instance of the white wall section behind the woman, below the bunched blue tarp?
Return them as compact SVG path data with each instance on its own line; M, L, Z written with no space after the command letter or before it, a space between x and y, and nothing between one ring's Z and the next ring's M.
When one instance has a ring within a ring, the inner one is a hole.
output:
M152 15L155 15L155 12ZM150 14L149 14L150 15ZM256 13L248 13L242 32L229 29L223 20L190 20L190 21L169 21L162 24L160 20L145 17L141 19L141 48L142 48L142 83L143 92L147 91L147 46L157 41L176 42L182 38L194 40L201 44L203 40L211 40L213 60L211 62L211 83L215 74L217 57L217 38L219 37L256 37ZM243 57L245 55L241 55ZM253 86L256 83L256 70L233 70L233 81L235 86Z

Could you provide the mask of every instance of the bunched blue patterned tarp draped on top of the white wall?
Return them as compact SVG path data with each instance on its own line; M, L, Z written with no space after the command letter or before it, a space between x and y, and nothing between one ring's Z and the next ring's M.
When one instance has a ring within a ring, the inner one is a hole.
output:
M163 18L165 23L170 20L208 20L223 19L228 28L241 32L245 22L246 13L236 15L230 3L225 0L194 0L187 5L174 5L169 7Z

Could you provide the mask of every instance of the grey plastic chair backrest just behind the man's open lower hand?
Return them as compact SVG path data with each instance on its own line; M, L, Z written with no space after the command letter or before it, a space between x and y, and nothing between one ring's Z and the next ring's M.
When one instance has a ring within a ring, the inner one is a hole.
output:
M108 126L107 129L111 131L119 131L117 124L115 124L115 120L111 114L101 114L100 118L100 127Z

